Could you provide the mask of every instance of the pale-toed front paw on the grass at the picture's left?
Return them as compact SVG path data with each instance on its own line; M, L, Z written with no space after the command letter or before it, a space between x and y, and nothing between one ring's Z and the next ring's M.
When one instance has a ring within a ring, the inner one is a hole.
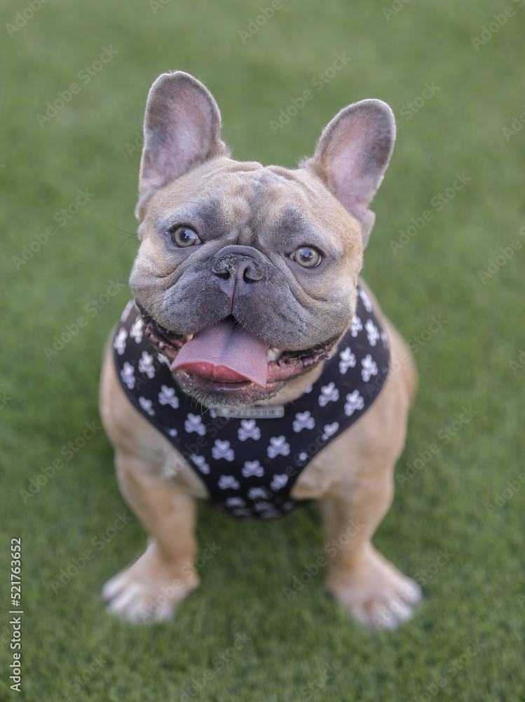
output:
M198 584L191 561L183 569L169 568L150 544L134 563L107 581L102 600L110 614L128 621L165 621L173 616L177 602Z

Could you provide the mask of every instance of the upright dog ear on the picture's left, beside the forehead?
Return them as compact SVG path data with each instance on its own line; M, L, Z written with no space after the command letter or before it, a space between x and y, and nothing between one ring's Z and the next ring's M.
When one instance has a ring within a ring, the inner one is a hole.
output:
M207 159L229 155L220 138L221 114L210 91L188 73L163 73L149 91L144 117L139 201L144 219L151 195Z

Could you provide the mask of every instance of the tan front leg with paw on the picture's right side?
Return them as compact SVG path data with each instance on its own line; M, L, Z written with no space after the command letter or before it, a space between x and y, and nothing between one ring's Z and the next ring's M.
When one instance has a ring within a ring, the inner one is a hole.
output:
M393 467L334 485L322 500L327 590L358 621L395 628L412 615L421 590L371 543L393 499Z

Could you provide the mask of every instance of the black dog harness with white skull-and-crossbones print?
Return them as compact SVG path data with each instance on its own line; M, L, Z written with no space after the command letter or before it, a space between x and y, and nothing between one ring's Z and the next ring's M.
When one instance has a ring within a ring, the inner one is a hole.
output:
M283 406L254 406L224 417L185 395L170 360L143 334L128 303L114 338L117 376L135 408L179 451L205 483L210 501L238 519L271 519L308 500L289 494L306 465L352 425L379 395L389 351L367 293L318 380Z

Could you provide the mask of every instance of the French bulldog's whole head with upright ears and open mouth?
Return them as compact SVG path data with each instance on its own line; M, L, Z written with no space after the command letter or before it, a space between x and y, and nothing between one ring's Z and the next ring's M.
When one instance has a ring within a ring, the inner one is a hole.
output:
M348 329L395 122L379 100L350 105L294 171L233 161L219 128L196 79L164 74L151 88L130 285L182 390L248 406Z

